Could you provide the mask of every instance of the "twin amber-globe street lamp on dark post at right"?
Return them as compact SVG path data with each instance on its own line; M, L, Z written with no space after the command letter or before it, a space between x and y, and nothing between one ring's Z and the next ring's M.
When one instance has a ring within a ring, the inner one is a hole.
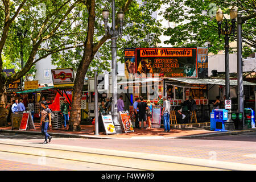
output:
M224 40L225 40L225 82L226 82L226 99L230 99L230 84L229 84L229 35L231 33L234 34L235 31L235 25L236 25L236 18L237 18L237 9L233 6L230 9L230 19L232 24L230 25L228 23L228 20L225 18L223 12L221 9L218 9L216 12L216 19L218 22L218 37L220 38L220 35L224 35ZM225 18L225 23L222 24L222 19L223 16ZM223 26L223 28L221 28Z

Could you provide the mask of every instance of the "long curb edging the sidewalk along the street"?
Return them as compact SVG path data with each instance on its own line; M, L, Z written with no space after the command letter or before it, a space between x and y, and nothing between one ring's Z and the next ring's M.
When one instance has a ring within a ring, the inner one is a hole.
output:
M166 139L175 139L175 138L203 138L203 137L220 137L227 135L238 135L243 133L255 132L256 129L247 129L247 130L238 130L238 131L225 131L218 133L207 133L207 134L197 134L197 135L188 135L181 137L164 137ZM43 135L38 131L14 131L14 130L0 130L0 133L14 133L14 134L24 134L24 135ZM62 138L84 138L84 139L136 139L136 138L112 138L112 137L100 137L92 135L78 135L78 134L59 134L59 133L50 133L52 137L62 137ZM151 137L150 139L158 139L158 137ZM137 139L148 139L148 137L139 137Z

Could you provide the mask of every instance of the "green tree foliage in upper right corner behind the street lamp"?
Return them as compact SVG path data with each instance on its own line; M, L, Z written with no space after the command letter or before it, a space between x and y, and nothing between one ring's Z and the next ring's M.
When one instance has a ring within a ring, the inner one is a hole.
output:
M218 38L218 26L215 18L218 7L229 14L229 7L238 7L238 14L252 16L242 26L243 56L248 56L255 51L255 0L165 0L170 7L162 12L169 22L175 22L176 27L167 28L164 35L170 36L165 43L172 46L201 47L205 42L210 42L209 52L217 53L224 49L224 38ZM236 40L236 34L230 36L230 42Z

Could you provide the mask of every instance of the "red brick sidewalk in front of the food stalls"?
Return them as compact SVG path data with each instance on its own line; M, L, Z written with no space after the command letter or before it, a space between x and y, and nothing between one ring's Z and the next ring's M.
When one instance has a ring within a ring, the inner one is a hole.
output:
M202 125L202 123L199 123ZM54 137L65 137L65 138L91 138L91 139L161 139L161 138L192 138L192 137L213 137L213 136L223 136L223 135L237 135L247 132L256 131L256 129L249 130L234 130L226 132L210 131L209 126L200 127L201 125L184 124L181 125L171 125L171 132L164 133L164 129L134 129L134 132L106 135L104 133L99 133L99 135L94 135L93 125L83 125L81 126L82 131L68 131L67 129L48 129L48 133ZM199 127L195 127L195 125ZM204 123L208 125L208 123ZM182 128L184 127L184 128ZM0 127L0 133L16 133L16 134L27 134L27 135L42 135L39 123L35 123L36 130L11 130L9 127ZM178 128L178 129L177 129ZM179 129L181 128L181 129Z

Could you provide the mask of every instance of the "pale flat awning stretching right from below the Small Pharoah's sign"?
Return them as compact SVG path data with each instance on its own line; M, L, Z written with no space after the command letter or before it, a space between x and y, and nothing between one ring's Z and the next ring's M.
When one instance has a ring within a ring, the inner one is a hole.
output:
M210 78L167 78L168 80L185 82L188 84L216 84L216 85L226 85L225 80L222 79L210 79ZM229 80L230 85L237 85L237 80ZM243 81L243 85L255 85L253 82Z

